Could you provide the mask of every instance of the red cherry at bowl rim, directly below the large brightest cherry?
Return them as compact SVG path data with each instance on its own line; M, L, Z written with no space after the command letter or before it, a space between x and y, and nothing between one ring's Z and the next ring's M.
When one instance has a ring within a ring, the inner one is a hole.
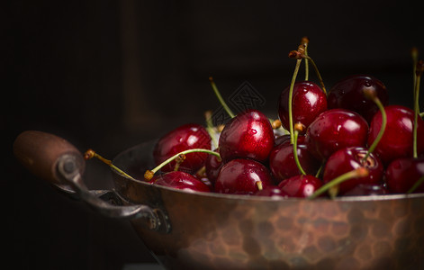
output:
M262 188L274 185L272 176L266 166L248 158L230 160L221 168L215 182L216 193L253 194Z

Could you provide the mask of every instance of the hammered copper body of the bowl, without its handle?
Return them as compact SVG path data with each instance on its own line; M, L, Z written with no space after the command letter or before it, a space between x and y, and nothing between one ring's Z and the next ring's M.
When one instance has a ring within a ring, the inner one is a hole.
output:
M151 166L149 148L114 162L138 175ZM183 193L118 175L115 184L129 201L167 212L169 233L132 223L170 269L424 269L423 194L273 201Z

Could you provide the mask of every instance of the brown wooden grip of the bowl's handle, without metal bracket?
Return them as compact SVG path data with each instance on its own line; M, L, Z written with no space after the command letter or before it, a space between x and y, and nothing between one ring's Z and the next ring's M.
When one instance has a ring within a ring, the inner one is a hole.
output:
M56 168L59 157L63 155L76 157L80 174L84 173L84 157L66 139L42 131L27 130L14 140L14 156L33 175L52 184L63 184Z

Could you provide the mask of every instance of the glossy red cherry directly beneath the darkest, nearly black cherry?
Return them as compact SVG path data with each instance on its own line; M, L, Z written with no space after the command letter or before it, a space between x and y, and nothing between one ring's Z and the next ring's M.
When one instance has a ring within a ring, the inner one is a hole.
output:
M368 124L356 112L332 109L322 112L306 130L311 154L324 161L341 148L365 147Z

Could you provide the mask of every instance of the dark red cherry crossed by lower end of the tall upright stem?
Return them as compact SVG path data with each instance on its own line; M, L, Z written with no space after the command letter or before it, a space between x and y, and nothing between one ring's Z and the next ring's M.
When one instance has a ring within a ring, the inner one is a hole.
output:
M307 175L315 175L318 172L320 161L311 155L307 145L304 143L304 136L299 136L297 139L297 156L302 169ZM278 182L301 174L294 161L293 145L290 140L273 148L269 155L269 168Z

